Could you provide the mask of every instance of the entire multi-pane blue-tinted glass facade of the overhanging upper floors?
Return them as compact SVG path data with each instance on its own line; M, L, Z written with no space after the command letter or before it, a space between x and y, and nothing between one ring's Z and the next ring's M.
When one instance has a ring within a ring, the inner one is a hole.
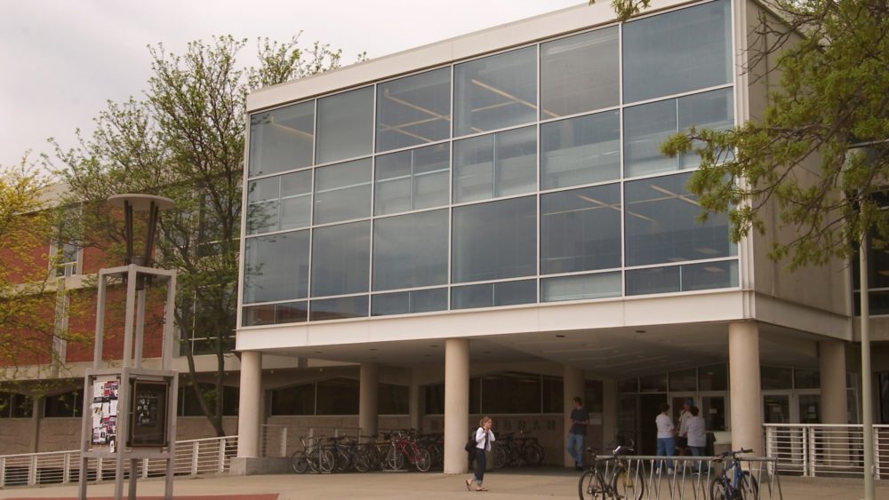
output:
M669 134L734 123L728 0L251 116L243 326L738 286Z

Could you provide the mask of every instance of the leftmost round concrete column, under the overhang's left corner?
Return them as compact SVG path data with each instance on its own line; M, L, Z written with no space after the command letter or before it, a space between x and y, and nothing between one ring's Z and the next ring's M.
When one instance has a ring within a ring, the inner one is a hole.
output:
M238 400L237 456L260 456L262 416L262 353L241 353L241 396Z

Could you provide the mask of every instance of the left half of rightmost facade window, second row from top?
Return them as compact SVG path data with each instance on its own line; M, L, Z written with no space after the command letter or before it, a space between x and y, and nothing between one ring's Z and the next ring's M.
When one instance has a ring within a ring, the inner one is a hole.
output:
M661 144L677 131L676 99L624 109L623 126L627 177L679 168L677 158L661 153Z

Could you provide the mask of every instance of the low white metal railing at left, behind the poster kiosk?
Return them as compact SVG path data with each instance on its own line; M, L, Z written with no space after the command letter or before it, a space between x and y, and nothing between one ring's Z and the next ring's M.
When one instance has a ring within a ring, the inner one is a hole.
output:
M237 436L176 441L173 474L224 474L236 454ZM142 478L164 476L166 462L159 458L144 458L140 460L138 471ZM80 480L80 473L79 449L0 455L0 488L74 483ZM87 460L84 473L90 481L114 480L115 460L91 458ZM124 474L129 476L130 473L130 461L126 460Z

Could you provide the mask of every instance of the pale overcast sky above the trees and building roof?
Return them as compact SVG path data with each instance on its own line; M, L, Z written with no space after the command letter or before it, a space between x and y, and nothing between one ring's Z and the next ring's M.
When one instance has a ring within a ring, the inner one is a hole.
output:
M586 0L0 0L0 165L75 146L106 101L140 96L146 46L213 35L300 42L377 58Z

